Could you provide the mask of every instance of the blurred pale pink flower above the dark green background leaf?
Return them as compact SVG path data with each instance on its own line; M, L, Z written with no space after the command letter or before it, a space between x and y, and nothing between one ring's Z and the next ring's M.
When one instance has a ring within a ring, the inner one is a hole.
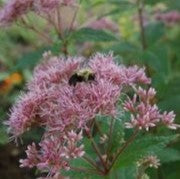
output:
M87 27L90 27L92 29L97 29L97 30L109 30L112 32L117 32L118 31L118 25L113 22L111 19L103 17L100 19L97 19L94 22L91 22L88 24Z

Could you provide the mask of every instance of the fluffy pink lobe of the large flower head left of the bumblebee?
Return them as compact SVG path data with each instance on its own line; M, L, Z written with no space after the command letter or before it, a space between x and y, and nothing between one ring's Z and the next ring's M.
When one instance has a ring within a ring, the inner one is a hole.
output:
M81 58L44 56L44 62L34 70L33 80L28 84L28 89L48 90L58 84L68 83L72 74L80 68L81 62Z

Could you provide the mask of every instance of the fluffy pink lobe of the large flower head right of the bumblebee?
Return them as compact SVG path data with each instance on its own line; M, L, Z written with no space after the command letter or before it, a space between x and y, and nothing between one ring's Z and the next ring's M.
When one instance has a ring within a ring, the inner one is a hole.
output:
M134 83L149 84L151 80L145 75L145 69L137 66L125 67L114 62L113 55L95 55L90 61L90 67L97 78L103 78L117 85L132 85Z

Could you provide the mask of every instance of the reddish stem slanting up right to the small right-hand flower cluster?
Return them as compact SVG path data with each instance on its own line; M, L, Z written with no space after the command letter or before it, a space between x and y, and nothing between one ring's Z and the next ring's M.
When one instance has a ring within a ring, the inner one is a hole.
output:
M131 144L134 139L136 138L137 134L138 134L138 129L135 129L135 131L133 132L133 134L131 135L131 137L124 143L124 145L117 151L117 154L115 155L111 166L109 168L109 170L113 167L114 163L116 162L116 160L118 159L118 157L121 155L122 152L124 152L124 150L129 146L129 144Z

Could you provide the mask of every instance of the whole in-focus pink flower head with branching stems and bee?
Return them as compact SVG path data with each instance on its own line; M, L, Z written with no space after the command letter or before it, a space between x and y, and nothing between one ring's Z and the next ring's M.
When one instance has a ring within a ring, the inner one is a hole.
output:
M21 167L37 167L54 178L69 170L105 176L139 133L178 127L173 112L158 109L155 89L142 87L151 82L144 68L118 65L112 54L96 54L88 62L49 52L43 58L7 122L15 139L33 127L44 129L39 144L28 146ZM127 139L124 128L133 131ZM77 159L88 166L74 166Z

